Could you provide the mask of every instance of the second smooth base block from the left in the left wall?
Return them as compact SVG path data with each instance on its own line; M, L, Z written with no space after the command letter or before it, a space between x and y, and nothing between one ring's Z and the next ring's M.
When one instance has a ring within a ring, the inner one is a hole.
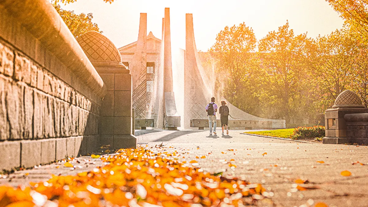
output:
M41 163L40 140L22 140L21 149L21 166L29 168Z

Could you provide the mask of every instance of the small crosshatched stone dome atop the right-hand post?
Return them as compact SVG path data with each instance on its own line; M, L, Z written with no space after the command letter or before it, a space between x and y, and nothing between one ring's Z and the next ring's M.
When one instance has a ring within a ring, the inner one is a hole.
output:
M353 91L345 90L337 96L335 104L332 106L332 108L341 107L364 108L365 106L357 94Z

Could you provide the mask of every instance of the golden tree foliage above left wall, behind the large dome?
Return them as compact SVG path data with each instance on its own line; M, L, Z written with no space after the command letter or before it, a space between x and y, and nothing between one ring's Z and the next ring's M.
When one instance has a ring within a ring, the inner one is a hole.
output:
M74 11L63 10L59 4L56 4L56 2L54 2L53 5L75 38L88 31L97 31L102 33L98 25L92 22L92 13L75 14Z

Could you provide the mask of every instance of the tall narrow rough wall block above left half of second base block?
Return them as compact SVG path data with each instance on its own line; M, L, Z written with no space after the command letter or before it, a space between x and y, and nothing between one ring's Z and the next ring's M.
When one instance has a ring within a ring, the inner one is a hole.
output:
M33 138L33 89L24 87L24 138Z

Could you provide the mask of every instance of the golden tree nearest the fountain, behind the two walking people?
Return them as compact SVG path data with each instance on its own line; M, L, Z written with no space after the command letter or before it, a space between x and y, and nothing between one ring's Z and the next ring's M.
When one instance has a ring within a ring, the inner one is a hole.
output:
M237 97L244 96L245 91L251 91L250 82L256 76L258 60L255 48L256 38L253 29L243 22L238 26L225 27L221 30L216 36L215 44L209 49L216 60L216 74L221 75L219 82L226 83L223 88L224 96L239 108L242 107L241 104L237 104L240 103Z

